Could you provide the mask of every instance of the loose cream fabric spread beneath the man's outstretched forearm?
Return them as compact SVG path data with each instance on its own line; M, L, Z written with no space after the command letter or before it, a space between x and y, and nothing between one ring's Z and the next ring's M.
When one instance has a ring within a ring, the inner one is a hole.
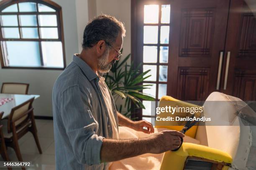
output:
M155 128L155 133L163 130L169 130L165 128ZM134 138L146 138L152 134L146 134L143 132L135 131L127 127L119 127L119 139L134 139ZM200 141L184 137L184 142L200 144ZM110 165L109 170L159 170L164 153L161 154L143 154L136 157L127 158L124 160L115 161Z

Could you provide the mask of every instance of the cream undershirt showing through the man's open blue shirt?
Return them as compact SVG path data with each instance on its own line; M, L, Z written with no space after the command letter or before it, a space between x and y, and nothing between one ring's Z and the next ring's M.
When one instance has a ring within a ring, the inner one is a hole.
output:
M104 77L100 77L99 85L100 85L100 90L102 92L102 96L104 98L105 104L106 104L107 109L108 109L110 122L111 122L111 125L112 125L113 139L118 139L118 128L117 128L114 113L113 113L110 94L109 94L109 91L108 91L108 87L105 83L105 78Z

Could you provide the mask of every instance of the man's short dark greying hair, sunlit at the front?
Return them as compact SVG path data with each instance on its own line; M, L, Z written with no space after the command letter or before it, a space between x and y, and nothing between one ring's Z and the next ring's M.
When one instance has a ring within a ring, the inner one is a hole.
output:
M100 40L113 44L118 33L125 36L125 27L122 22L110 15L100 15L90 20L84 29L83 48L90 48Z

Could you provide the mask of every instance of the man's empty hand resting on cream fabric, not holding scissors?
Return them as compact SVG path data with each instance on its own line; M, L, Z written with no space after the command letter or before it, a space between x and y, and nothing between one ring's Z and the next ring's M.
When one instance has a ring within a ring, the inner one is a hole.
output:
M153 125L145 120L134 121L131 128L147 134L154 133Z

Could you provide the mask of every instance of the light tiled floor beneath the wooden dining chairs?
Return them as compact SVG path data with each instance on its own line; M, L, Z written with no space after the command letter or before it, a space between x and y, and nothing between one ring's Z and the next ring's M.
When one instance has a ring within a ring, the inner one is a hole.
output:
M27 133L18 141L23 160L32 161L31 167L26 170L55 170L53 121L36 119L36 128L43 154L39 154L32 133ZM8 148L7 152L10 160L18 161L12 148ZM1 156L0 161L3 161ZM0 168L0 170L5 169L7 168ZM21 170L21 168L12 169Z

